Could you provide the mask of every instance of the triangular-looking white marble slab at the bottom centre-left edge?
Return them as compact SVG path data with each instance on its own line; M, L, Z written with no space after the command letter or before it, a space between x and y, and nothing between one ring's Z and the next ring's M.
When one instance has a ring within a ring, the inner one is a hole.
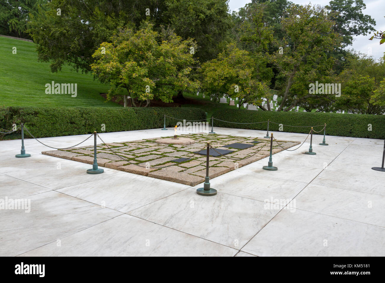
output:
M238 250L127 214L22 256L234 256Z

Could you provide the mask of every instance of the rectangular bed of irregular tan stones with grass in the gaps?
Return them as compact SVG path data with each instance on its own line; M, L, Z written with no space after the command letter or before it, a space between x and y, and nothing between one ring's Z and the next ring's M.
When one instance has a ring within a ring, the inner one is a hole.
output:
M107 143L107 145L99 144L97 147L98 166L195 186L196 184L202 183L206 176L206 156L202 156L196 152L206 152L207 142L210 142L217 150L225 149L228 151L228 147L223 146L231 143L242 143L245 147L244 149L230 149L231 152L228 155L235 158L235 160L226 156L210 156L210 178L218 177L237 167L245 166L262 159L269 155L270 150L269 141L266 143L266 141L256 137L237 137L218 134L208 135L205 133L184 134L179 137L194 141L199 140L199 142L188 145L157 144L154 142L154 139L142 139L131 142L112 142ZM169 140L172 141L172 139ZM261 141L261 143L255 144L253 143L255 141ZM300 143L293 141L278 142L284 148L289 148ZM273 154L282 150L282 147L274 141ZM210 149L210 151L216 153L213 149ZM44 151L42 154L62 157L87 164L94 162L93 150L90 146ZM171 161L177 158L189 158L190 160L173 164ZM226 161L223 166L221 166L222 161ZM145 168L136 166L135 164L145 166ZM171 164L173 164L173 166L169 166ZM169 167L159 168L164 166Z

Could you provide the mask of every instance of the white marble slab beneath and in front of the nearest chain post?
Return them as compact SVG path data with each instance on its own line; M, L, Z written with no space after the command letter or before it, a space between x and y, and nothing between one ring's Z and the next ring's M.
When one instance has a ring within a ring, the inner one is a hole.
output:
M207 197L186 189L128 214L232 248L246 244L279 209L264 202L218 193Z

